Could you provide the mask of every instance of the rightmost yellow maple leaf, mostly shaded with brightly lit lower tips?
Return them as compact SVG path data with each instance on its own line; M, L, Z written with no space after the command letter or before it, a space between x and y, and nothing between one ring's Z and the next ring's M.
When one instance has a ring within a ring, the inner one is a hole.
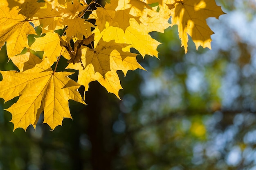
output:
M196 48L199 46L211 49L213 31L207 25L208 17L218 17L224 12L216 5L215 0L175 0L171 24L178 26L179 37L187 52L188 35L191 36Z

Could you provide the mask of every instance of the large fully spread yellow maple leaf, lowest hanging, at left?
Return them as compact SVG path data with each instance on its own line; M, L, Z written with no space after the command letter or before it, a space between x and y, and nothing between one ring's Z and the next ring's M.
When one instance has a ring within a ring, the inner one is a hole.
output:
M23 57L26 56L36 57L29 54ZM31 59L26 60L29 62ZM13 130L19 127L26 130L30 124L35 128L42 111L44 111L43 123L54 129L62 124L63 118L72 118L68 100L85 104L77 91L80 85L67 77L72 73L54 73L47 58L32 69L23 72L0 71L0 73L3 76L0 82L0 97L8 101L20 96L16 103L6 109L12 114Z

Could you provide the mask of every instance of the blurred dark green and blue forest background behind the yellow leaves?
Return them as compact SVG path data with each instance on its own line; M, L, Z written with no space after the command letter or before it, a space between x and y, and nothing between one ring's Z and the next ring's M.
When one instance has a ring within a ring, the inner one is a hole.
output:
M159 59L118 72L122 101L92 82L73 120L13 132L17 98L0 99L0 170L256 170L256 1L216 1L227 15L207 20L212 50L190 40L184 54L177 26L152 33Z

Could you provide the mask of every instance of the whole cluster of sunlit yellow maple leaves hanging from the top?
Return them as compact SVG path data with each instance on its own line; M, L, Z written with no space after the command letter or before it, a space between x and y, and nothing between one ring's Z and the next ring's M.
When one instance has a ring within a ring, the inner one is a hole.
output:
M206 19L222 14L215 0L110 0L104 7L95 0L1 0L0 48L6 44L19 69L0 71L0 98L19 96L7 109L14 130L36 127L43 111L51 129L61 125L63 118L72 118L68 100L85 104L77 89L83 85L87 91L91 81L119 98L117 70L126 75L144 69L130 48L143 57L158 55L160 43L149 35L152 31L164 33L177 24L185 52L188 35L196 48L211 48L213 32ZM28 35L37 35L38 28L40 35L29 44ZM43 51L43 58L35 51ZM79 70L77 82L68 77L70 72L56 72L61 56L68 60L66 69Z

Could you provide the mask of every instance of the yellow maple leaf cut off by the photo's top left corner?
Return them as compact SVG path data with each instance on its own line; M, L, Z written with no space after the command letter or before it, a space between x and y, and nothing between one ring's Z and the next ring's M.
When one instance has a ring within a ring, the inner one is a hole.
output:
M38 5L40 3L37 3ZM23 7L22 9L26 9ZM29 10L29 7L27 7ZM17 7L9 10L7 0L0 1L0 48L7 42L7 54L11 58L28 46L27 35L36 34L25 15ZM28 15L30 16L30 15Z

